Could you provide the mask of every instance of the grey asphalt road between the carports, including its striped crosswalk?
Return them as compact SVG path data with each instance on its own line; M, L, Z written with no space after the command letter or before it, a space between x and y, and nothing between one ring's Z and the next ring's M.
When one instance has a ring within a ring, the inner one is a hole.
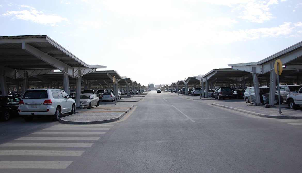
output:
M176 95L151 91L108 124L0 122L0 172L301 172L302 125Z

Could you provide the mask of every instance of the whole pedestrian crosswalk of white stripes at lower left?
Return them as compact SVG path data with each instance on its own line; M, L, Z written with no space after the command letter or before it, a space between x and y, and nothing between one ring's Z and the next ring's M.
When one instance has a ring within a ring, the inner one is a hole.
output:
M112 126L58 124L0 144L0 172L1 169L21 168L65 169L73 161L58 161L61 156L82 156L85 149L91 147ZM25 159L18 161L20 156ZM45 156L51 156L53 160Z

